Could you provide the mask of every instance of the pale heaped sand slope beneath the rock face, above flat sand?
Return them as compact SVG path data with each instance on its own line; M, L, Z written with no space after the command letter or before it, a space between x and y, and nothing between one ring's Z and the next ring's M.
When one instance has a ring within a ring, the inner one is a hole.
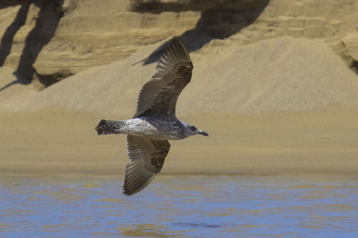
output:
M155 64L135 63L160 44L145 46L113 64L79 72L15 100L14 105L0 101L0 109L60 105L132 115L142 83L155 72ZM320 40L280 37L248 46L229 39L214 40L191 57L193 77L179 97L178 115L358 105L358 76Z

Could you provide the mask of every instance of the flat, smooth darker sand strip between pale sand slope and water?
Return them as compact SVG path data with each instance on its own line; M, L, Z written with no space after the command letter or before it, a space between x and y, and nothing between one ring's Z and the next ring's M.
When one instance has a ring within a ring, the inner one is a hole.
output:
M0 112L2 175L123 174L124 135L98 136L104 115L48 107ZM358 174L358 107L179 117L209 133L170 141L161 174Z

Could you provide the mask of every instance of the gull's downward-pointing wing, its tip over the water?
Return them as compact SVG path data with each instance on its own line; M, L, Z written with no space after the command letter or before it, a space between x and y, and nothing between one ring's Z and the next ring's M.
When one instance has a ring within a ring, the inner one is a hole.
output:
M132 135L127 135L126 143L131 162L126 166L123 193L130 196L145 188L160 172L170 144L166 140L148 140Z

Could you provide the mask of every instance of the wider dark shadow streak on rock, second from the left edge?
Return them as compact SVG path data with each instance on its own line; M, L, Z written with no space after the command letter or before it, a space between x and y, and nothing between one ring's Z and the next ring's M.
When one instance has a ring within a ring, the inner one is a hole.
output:
M63 0L40 2L36 5L40 7L38 18L34 28L26 37L19 65L14 73L19 83L25 85L32 81L35 74L32 64L37 59L42 48L54 36L58 23L63 16Z

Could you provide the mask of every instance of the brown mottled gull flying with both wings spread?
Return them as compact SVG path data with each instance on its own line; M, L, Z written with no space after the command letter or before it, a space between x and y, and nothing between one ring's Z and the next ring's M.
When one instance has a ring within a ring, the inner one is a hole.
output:
M101 120L97 135L126 134L130 162L126 166L123 193L141 191L160 172L168 155L168 140L181 140L193 135L208 136L175 116L176 100L190 82L193 64L178 37L171 39L156 66L157 72L142 85L137 109L132 119Z

